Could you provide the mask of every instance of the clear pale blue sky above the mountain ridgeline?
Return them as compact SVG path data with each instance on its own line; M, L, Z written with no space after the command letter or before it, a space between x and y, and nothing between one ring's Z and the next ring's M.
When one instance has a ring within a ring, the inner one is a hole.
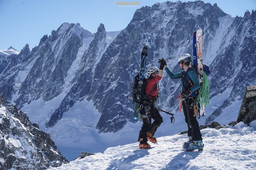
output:
M105 25L106 31L122 30L130 23L136 9L166 0L127 1L140 2L137 7L116 5L123 1L126 0L0 0L0 49L12 46L20 51L28 44L31 50L44 34L51 35L52 30L57 30L64 22L80 23L93 33L100 23ZM256 9L256 0L203 1L217 3L232 17L243 17L246 10Z

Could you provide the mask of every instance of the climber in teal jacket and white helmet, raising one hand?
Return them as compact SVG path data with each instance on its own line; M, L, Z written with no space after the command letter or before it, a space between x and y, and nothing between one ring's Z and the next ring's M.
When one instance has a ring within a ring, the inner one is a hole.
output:
M182 83L182 108L185 122L188 124L188 141L183 144L183 148L187 151L195 149L203 150L202 134L196 119L197 110L194 112L194 105L196 105L195 99L200 87L197 73L194 68L190 67L191 57L189 54L180 55L178 62L180 68L183 70L180 73L172 73L168 69L167 64L164 65L164 70L171 79L180 78Z

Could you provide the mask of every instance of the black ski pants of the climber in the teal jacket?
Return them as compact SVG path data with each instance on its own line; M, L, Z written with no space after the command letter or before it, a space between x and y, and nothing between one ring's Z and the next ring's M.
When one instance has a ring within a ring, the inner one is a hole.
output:
M197 122L196 116L194 117L194 100L192 98L183 100L182 108L185 116L185 122L188 124L188 136L192 137L193 141L202 140L199 124ZM191 127L189 126L189 118Z

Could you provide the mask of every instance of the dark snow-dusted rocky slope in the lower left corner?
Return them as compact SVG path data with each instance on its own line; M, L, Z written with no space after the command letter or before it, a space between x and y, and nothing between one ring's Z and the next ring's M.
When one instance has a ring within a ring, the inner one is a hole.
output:
M1 168L47 169L68 160L60 153L50 134L38 129L27 115L5 103L0 96L0 159Z

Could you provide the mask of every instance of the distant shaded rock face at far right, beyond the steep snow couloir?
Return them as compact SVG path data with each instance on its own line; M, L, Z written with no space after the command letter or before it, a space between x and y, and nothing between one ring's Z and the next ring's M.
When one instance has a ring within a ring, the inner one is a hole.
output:
M222 106L207 118L206 124L222 114L222 110L231 105L232 102L241 100L244 96L244 88L247 85L256 84L256 71L250 69L254 68L256 63L255 13L255 11L252 11L252 14L250 14L247 11L243 18L236 17L234 19L223 37L224 40L232 37L229 45L223 50L224 52L217 55L211 64L211 66L214 66L211 68L213 74L209 78L211 97L224 92L229 87L232 87L232 91ZM222 45L225 43L223 41ZM226 79L226 77L229 79Z

